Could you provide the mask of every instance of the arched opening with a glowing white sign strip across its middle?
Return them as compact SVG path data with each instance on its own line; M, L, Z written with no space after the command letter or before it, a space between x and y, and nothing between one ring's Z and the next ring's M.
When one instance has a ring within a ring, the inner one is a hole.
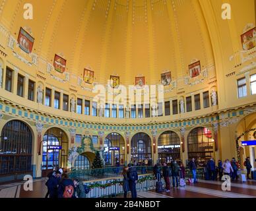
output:
M158 159L161 162L180 160L179 136L174 131L165 131L158 138Z

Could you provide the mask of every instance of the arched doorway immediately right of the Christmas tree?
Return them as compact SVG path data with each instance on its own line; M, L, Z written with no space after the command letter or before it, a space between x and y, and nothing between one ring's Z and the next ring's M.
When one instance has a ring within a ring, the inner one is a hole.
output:
M125 163L125 140L118 133L110 133L104 141L104 161L106 166Z

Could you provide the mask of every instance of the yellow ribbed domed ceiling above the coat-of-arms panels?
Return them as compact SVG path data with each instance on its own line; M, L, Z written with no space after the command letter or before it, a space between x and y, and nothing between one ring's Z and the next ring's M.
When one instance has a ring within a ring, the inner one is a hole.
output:
M198 1L192 0L48 0L31 1L33 19L20 18L26 1L0 1L2 22L18 36L32 35L33 52L53 63L55 53L67 60L66 71L94 81L110 75L121 84L159 84L160 74L189 76L188 65L214 63L207 25Z

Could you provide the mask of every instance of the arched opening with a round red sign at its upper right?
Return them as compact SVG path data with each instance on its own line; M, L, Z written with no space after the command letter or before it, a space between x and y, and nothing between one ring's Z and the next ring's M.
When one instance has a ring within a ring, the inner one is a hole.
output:
M187 153L189 159L195 158L199 163L204 163L213 156L214 139L206 127L197 127L187 136Z

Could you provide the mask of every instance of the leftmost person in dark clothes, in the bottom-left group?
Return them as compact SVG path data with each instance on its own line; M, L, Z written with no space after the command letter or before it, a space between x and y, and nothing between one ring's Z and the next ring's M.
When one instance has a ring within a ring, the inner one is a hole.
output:
M48 188L49 198L57 198L61 171L52 171L48 174L48 177L49 179L46 182L46 186ZM48 198L48 194L46 194L46 198Z

